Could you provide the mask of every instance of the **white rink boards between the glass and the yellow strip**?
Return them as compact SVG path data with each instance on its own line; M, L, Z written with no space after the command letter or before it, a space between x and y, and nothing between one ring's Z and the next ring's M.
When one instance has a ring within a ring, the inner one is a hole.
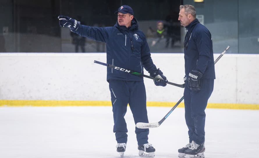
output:
M231 48L230 48L231 49ZM152 53L168 81L183 84L184 54ZM214 54L214 60L219 54ZM0 53L0 100L109 101L105 53ZM259 104L259 54L225 54L209 103ZM149 75L144 71L144 74ZM177 102L183 88L144 79L147 101Z

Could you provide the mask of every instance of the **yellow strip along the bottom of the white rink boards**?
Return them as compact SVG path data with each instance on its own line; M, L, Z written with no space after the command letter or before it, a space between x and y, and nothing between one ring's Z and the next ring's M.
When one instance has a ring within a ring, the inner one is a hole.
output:
M176 102L147 102L147 106L173 107ZM111 101L83 100L0 100L3 106L111 106ZM178 107L184 107L181 102ZM215 109L252 109L259 110L259 104L208 103L207 108Z

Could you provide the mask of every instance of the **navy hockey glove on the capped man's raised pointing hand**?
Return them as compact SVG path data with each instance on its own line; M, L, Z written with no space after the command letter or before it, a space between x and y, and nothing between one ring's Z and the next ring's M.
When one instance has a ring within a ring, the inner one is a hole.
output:
M60 27L68 27L71 31L77 31L77 29L79 28L80 22L72 19L71 17L59 15L58 19Z

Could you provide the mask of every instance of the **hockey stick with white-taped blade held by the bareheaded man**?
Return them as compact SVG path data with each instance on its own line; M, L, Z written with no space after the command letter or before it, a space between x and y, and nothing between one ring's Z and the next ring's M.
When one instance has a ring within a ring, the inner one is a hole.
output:
M228 46L224 52L222 52L219 57L214 61L214 64L217 63L217 61L219 61L219 59L228 51L228 49L230 48L230 46ZM173 108L166 114L166 116L164 116L162 118L162 120L160 120L159 122L155 122L155 123L143 123L143 122L138 122L136 124L136 127L137 128L154 128L154 127L159 127L163 122L164 120L173 112L173 110L180 104L180 102L182 102L183 100L183 96L182 98L175 104L175 106L173 106Z

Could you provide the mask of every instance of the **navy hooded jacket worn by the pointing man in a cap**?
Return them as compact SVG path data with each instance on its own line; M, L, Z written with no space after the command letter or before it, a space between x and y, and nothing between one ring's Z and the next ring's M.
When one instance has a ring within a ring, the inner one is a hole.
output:
M113 27L91 27L79 25L75 33L95 40L106 42L107 64L143 74L143 67L153 73L157 70L151 56L146 37L138 29L138 22L132 19L131 27L120 26L118 22ZM107 67L107 81L121 79L126 81L143 81L143 77Z

